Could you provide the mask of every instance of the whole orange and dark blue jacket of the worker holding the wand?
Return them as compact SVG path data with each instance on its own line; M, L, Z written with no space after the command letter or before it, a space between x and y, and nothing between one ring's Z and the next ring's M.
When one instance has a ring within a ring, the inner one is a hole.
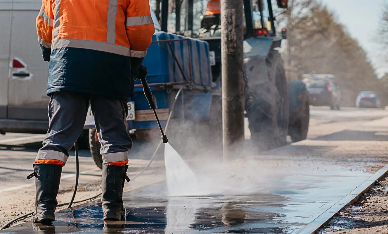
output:
M138 66L154 34L148 0L42 0L36 18L47 95L60 91L128 101L131 66Z

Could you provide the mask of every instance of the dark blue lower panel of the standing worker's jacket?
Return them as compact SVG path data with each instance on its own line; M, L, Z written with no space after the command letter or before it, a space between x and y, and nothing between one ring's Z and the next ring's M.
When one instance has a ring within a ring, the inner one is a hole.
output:
M133 96L130 57L81 48L51 52L47 95L59 91L128 101Z

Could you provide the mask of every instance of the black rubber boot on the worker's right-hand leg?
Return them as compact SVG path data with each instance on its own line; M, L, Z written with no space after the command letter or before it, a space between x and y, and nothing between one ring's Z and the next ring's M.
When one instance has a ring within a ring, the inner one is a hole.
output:
M125 220L125 208L123 206L124 182L129 182L126 176L126 166L114 166L102 164L102 211L104 220Z

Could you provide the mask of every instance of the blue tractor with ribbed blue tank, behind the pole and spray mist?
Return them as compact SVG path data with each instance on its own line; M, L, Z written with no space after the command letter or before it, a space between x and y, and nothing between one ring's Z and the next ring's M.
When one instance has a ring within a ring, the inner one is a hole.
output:
M197 149L220 149L222 25L220 14L205 14L199 4L204 1L151 1L156 33L143 64L148 68L147 81L162 126L172 112L173 130L168 135L171 143L193 147L196 141ZM286 80L277 51L286 35L284 30L282 35L276 35L272 1L243 1L245 109L251 141L260 150L267 150L285 145L287 135L293 141L304 140L310 117L308 93L303 82ZM278 11L287 8L287 0L277 0L277 7ZM159 134L140 81L135 82L128 109L131 133L148 138ZM95 130L90 129L90 151L101 167L95 135Z

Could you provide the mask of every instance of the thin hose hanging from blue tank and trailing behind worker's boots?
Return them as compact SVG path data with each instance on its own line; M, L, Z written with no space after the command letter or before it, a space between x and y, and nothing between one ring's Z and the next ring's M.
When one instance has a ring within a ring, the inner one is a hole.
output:
M175 98L174 98L174 102L173 102L173 105L171 106L171 110L170 110L170 113L168 115L168 119L167 119L167 122L166 122L166 126L165 126L165 134L167 132L167 127L168 127L168 124L170 123L170 119L171 119L171 116L172 116L172 113L174 112L174 108L175 108L175 104L177 103L177 100L178 100L178 97L180 95L180 93L182 93L182 89L183 87L181 87L177 94L175 95ZM154 161L155 159L155 156L156 156L156 152L158 152L161 144L163 143L163 140L160 140L159 141L159 144L158 146L156 147L155 151L154 151L154 154L152 154L152 157L151 159L149 160L147 166L145 166L137 175L135 175L131 181L135 180L137 177L139 177L140 175L142 175L142 173L151 165L152 161ZM71 205L73 203L80 203L80 202L84 202L84 201L89 201L89 200L93 200L93 199L96 199L97 197L101 196L102 195L102 192L100 192L99 194L93 196L93 197L89 197L89 198L86 198L86 199L83 199L83 200L80 200L80 201L74 201L74 198L75 198L75 195L76 195L76 192L77 192L77 187L78 187L78 178L79 178L79 173L80 173L80 169L79 169L79 161L78 161L78 144L77 142L74 143L74 149L75 149L75 158L76 158L76 181L75 181L75 185L74 185L74 190L73 190L73 196L71 197L71 200L70 202L68 203L61 203L61 204L58 204L57 206L66 206L68 205L68 208L71 207ZM6 229L7 227L9 227L11 224L13 224L14 222L18 221L18 220L21 220L23 218L27 218L31 215L33 215L34 212L30 212L30 213L27 213L27 214L24 214L24 215L21 215L21 216L18 216L16 218L14 218L13 220L9 221L7 224L3 225L0 230L3 230L3 229Z

